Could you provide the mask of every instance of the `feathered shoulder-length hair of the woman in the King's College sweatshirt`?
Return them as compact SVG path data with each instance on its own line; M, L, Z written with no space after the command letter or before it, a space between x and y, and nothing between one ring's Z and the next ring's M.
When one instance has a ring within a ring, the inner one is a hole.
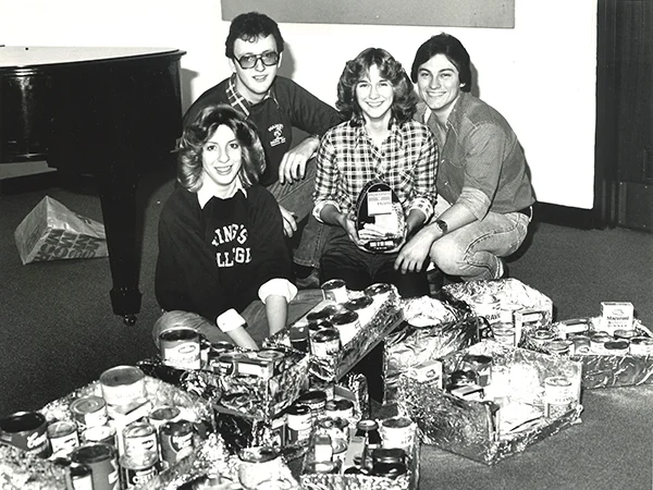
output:
M201 187L202 148L223 124L234 132L241 144L243 166L238 175L243 186L256 184L266 170L266 155L254 123L231 106L208 106L186 126L177 149L177 181L192 193Z

